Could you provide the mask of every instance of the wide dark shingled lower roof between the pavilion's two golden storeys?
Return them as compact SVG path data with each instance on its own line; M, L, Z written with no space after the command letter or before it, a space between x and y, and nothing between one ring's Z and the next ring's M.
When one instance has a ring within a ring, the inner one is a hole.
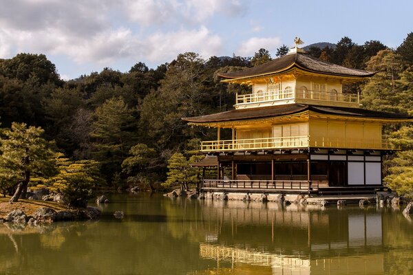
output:
M187 122L207 123L207 122L226 122L237 120L250 120L257 118L272 118L281 115L292 115L302 111L314 111L315 113L325 113L330 115L343 115L360 118L385 118L395 120L412 120L413 117L401 115L399 113L385 113L381 111L372 111L360 108L346 107L326 107L306 104L286 104L271 107L257 107L248 109L235 109L222 113L213 113L211 115L201 115L192 118L182 118Z

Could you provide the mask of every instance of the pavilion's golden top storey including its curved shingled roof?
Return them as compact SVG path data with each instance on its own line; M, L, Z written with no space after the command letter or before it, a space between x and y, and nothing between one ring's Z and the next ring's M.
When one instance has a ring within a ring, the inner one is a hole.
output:
M220 74L225 83L252 87L250 94L237 94L235 109L293 103L358 108L359 94L343 92L343 85L373 75L321 61L297 48L268 63Z

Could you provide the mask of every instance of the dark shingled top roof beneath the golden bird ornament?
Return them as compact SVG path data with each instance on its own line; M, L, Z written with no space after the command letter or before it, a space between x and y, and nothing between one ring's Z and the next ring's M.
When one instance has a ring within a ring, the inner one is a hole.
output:
M299 67L300 69L304 69L309 72L318 72L336 76L368 77L375 74L374 72L367 72L361 69L350 69L332 63L327 63L306 53L297 52L294 54L287 54L286 56L282 56L280 58L275 58L273 61L269 61L256 67L243 69L242 71L222 73L220 76L223 78L247 78L252 76L280 73L293 67Z

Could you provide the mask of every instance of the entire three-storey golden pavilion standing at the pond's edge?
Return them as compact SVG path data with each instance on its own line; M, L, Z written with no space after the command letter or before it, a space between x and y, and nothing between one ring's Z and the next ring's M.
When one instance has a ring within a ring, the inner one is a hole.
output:
M182 118L217 129L203 141L207 157L195 166L215 167L202 190L222 192L374 192L383 186L383 158L394 148L384 124L411 121L398 113L362 109L360 95L343 85L374 76L314 58L296 46L280 58L220 75L224 83L252 87L237 94L235 109ZM221 130L230 129L230 140Z

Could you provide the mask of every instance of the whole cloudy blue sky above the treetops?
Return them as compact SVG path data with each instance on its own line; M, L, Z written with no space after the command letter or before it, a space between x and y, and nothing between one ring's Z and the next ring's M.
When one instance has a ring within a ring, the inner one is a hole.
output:
M0 58L45 54L63 79L138 62L156 68L178 54L253 56L281 45L389 47L413 31L411 0L0 0Z

